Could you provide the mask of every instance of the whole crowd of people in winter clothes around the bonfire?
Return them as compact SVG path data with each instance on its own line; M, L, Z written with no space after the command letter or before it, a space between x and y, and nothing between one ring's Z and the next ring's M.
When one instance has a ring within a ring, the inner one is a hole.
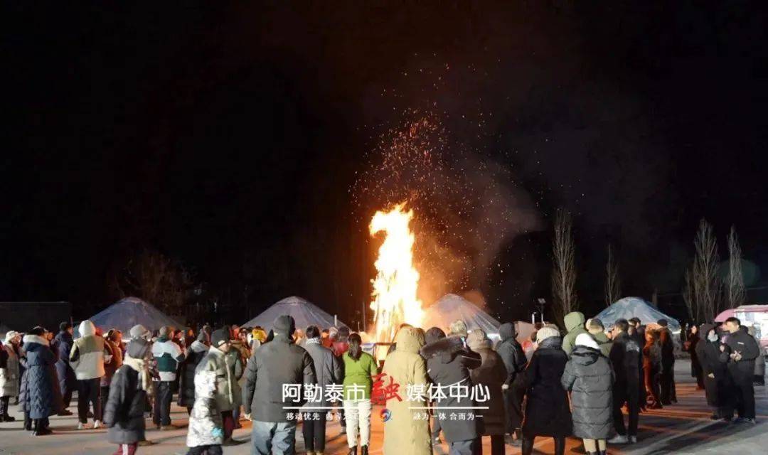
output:
M571 436L591 454L637 442L639 414L677 401L667 321L619 319L606 331L599 319L571 312L564 325L564 333L538 325L521 344L511 323L499 328L495 343L463 321L448 333L404 324L381 373L359 334L297 330L289 315L276 318L269 333L210 325L197 334L170 327L152 333L136 325L124 336L91 321L81 322L78 338L67 322L58 334L9 331L0 345L0 420L15 421L8 409L18 401L23 428L51 434L48 418L71 415L77 391L78 429L107 427L115 454L131 455L151 444L148 420L161 431L177 427L175 394L189 414L190 454L223 453L239 443L233 431L250 420L253 453L295 453L301 425L306 453L323 455L327 420L335 415L349 455L367 455L372 400L384 384L384 453L428 455L441 434L457 455L482 453L483 436L492 455L505 453L506 443L530 455L536 437L553 438L557 455ZM720 327L691 328L684 340L712 418L730 421L736 412L737 421L753 424L762 354L746 327L729 318ZM303 392L286 401L293 384ZM313 387L339 394L313 396Z

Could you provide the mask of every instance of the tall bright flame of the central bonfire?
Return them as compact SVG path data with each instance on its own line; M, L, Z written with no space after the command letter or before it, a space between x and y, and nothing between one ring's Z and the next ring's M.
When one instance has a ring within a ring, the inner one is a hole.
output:
M374 264L376 279L372 279L375 341L391 341L400 324L419 327L424 318L422 302L416 298L419 272L413 266L415 236L409 226L413 210L404 208L402 203L389 212L376 212L369 226L371 236L386 235Z

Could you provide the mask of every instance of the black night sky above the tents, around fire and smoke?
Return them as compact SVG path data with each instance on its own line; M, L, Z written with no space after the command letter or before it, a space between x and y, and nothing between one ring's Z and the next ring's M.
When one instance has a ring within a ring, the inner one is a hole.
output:
M152 249L237 321L286 295L353 318L373 273L366 210L399 201L349 189L411 110L502 167L538 216L470 261L503 318L548 292L558 206L587 308L608 242L627 295L678 292L702 217L721 254L735 225L768 270L765 2L223 3L5 2L0 298L85 316Z

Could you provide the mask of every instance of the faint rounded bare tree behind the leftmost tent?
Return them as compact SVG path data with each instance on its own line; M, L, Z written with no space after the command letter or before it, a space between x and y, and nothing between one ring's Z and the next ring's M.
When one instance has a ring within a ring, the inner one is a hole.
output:
M160 252L144 250L133 258L114 279L120 295L134 295L170 315L183 312L193 283L184 266Z

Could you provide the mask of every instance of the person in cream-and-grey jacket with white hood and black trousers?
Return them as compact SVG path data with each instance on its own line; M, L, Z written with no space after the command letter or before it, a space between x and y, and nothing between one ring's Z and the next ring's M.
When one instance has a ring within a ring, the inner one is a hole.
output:
M80 323L80 338L74 341L69 363L78 379L78 430L88 423L88 404L93 406L94 428L101 425L101 377L104 362L111 361L111 352L104 345L104 338L96 336L91 321Z

